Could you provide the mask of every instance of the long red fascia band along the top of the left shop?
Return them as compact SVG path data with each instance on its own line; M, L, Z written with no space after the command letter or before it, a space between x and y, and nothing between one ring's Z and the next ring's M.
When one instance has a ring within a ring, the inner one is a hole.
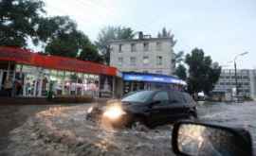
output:
M0 47L0 61L1 60L16 61L18 63L41 66L50 69L98 75L117 76L118 73L118 70L115 67L110 67L91 61L79 61L64 57L40 55L21 48Z

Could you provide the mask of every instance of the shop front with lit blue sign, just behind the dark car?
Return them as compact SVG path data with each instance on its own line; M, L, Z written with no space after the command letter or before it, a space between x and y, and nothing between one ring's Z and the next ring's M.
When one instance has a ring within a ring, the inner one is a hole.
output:
M174 89L184 90L186 82L172 76L143 74L135 72L123 73L123 94L139 90Z

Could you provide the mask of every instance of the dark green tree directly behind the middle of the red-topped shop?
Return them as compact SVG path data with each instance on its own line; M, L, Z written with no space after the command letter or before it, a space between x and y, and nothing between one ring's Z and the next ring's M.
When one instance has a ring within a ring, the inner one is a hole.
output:
M97 47L77 29L77 24L68 16L56 16L44 20L39 31L45 34L42 38L47 43L46 53L82 61L102 62Z

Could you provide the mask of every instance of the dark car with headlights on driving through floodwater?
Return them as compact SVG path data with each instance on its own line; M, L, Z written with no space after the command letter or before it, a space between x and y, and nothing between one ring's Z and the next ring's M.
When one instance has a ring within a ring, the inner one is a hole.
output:
M196 117L192 96L173 90L138 91L119 101L112 101L105 107L91 107L86 116L92 120L107 120L113 126L133 127L143 124L150 128L181 118Z

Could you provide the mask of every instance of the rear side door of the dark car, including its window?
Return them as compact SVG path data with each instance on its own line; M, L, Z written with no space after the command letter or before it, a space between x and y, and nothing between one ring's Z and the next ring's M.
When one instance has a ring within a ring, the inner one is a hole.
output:
M170 91L170 102L169 102L169 113L168 118L170 120L176 120L178 118L184 117L186 113L186 104L182 93L177 91Z

